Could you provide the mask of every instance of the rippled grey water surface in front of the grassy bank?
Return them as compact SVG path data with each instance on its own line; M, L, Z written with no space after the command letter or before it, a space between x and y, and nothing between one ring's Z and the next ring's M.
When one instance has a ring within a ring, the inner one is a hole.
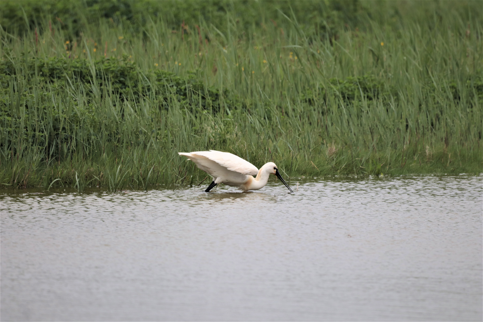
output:
M481 321L483 176L0 192L2 321Z

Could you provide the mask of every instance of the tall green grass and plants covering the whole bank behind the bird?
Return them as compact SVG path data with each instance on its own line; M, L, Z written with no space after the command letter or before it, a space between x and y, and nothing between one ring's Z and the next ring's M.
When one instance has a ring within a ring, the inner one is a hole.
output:
M208 149L286 177L292 155L292 177L482 172L481 2L2 6L5 187L196 185L177 153Z

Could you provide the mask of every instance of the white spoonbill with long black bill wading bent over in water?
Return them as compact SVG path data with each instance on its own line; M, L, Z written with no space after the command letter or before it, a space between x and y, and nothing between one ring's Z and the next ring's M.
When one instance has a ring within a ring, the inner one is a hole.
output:
M213 177L213 182L210 183L205 192L210 192L210 190L218 183L225 183L232 187L238 187L243 192L248 190L258 190L267 184L270 174L276 175L280 181L284 182L285 187L287 187L290 192L293 192L284 181L280 172L278 172L277 166L273 162L264 164L263 167L258 170L250 162L228 152L210 150L191 153L179 152L179 154L185 155L188 159L193 161L198 168ZM256 178L253 177L255 175Z

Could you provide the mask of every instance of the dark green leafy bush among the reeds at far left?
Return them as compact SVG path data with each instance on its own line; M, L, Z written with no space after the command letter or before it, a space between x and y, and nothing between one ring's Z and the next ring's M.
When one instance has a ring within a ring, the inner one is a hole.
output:
M194 72L186 77L164 70L142 72L127 57L96 61L21 57L0 61L0 84L1 135L8 138L0 142L0 147L10 145L12 140L26 140L50 151L55 142L70 141L68 133L72 128L94 129L105 122L96 111L99 99L111 99L123 118L125 102L143 99L157 102L158 109L178 106L195 114L203 110L217 113L223 104L233 108L227 90L221 93L205 87ZM66 101L59 104L71 108L60 109L52 96L65 97ZM35 120L35 126L27 120ZM13 130L21 133L22 138L13 138ZM108 141L115 140L116 131L113 128L108 133ZM83 135L84 144L89 146L97 133L91 130ZM16 151L17 147L13 149ZM47 157L57 157L58 153L55 150Z

